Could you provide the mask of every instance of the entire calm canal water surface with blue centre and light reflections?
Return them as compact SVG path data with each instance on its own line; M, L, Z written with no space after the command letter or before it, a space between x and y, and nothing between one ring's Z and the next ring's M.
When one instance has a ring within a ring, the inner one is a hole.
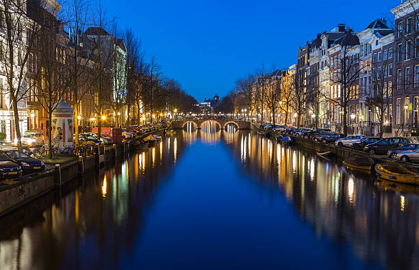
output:
M251 131L165 137L0 219L0 269L419 269L419 197Z

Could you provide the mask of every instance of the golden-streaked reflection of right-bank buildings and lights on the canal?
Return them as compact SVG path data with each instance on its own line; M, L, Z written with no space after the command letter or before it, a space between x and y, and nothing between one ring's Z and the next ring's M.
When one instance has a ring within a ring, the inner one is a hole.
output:
M383 187L373 176L347 171L298 148L247 132L225 144L260 187L279 189L318 238L344 239L364 261L389 269L419 265L419 196Z

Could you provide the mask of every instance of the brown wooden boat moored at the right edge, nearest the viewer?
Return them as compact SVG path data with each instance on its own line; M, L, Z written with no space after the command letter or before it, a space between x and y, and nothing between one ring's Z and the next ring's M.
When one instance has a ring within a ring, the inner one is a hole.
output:
M375 165L375 172L380 178L398 183L418 185L419 172L407 169L405 166L389 162Z

